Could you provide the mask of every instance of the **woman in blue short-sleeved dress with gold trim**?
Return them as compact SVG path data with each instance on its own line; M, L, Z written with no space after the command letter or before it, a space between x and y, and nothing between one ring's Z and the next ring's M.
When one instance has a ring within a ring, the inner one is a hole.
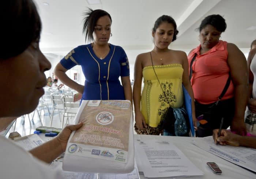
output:
M89 9L84 18L83 33L85 39L93 42L71 50L54 69L62 83L83 94L82 100L132 102L127 55L122 47L108 43L112 36L111 24L108 12ZM76 83L65 74L75 65L82 67L86 78L84 85ZM120 76L122 85L118 79Z

